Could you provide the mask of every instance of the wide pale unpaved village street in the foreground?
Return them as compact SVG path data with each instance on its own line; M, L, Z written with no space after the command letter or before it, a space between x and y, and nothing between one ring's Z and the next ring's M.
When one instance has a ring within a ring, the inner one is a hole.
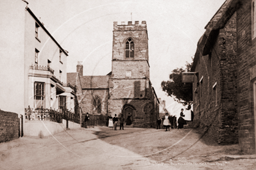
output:
M108 127L0 143L0 169L254 169L255 155L219 146L196 129ZM199 140L200 139L200 140Z

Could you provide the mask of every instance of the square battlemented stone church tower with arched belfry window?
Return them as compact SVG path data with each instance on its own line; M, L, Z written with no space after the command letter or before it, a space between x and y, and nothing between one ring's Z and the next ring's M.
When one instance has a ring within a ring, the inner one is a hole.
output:
M146 21L125 25L114 22L112 74L109 78L108 114L132 115L135 127L155 121L154 91L149 81Z

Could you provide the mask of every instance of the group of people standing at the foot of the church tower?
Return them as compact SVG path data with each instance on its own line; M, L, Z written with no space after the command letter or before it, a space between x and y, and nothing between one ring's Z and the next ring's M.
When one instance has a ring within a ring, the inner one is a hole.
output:
M127 116L126 119L126 125L132 125L132 120L131 120L132 115L130 113ZM121 118L117 118L117 115L115 114L115 117L112 118L111 114L108 116L108 127L114 127L114 130L117 130L117 123L118 120L120 120L120 130L123 128L124 130L124 116L121 114Z

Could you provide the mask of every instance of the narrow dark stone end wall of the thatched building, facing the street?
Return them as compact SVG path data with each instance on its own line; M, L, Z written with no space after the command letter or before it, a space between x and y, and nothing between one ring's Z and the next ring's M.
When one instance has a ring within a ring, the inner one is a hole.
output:
M237 115L237 13L219 31L221 64L221 125L219 141L238 143Z

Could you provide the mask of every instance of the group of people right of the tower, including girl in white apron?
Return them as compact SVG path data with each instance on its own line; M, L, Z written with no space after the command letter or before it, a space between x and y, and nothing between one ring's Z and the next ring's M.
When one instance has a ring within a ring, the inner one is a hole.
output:
M184 111L184 109L181 109L180 117L178 118L178 129L183 128L184 125L187 124L187 121L185 121L183 118L183 117L185 117L185 115L183 114L183 111ZM161 126L162 121L163 121L164 128L166 128L166 131L170 130L170 127L177 128L176 116L169 116L169 113L166 112L166 116L164 116L164 118L162 118L162 120L160 119L160 117L158 118L157 129L161 128L160 126Z

